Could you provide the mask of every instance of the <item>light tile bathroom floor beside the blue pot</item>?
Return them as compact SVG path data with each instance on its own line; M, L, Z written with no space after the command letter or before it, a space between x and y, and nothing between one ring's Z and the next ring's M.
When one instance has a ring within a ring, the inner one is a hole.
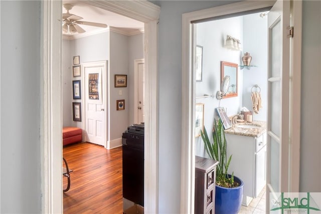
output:
M241 206L239 214L248 213L265 213L265 187L262 189L257 198L253 198L249 206Z

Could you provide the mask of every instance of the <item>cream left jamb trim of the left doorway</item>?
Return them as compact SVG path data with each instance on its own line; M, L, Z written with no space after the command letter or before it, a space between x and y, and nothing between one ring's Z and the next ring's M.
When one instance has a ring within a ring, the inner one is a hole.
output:
M41 195L43 213L62 213L61 1L42 1Z

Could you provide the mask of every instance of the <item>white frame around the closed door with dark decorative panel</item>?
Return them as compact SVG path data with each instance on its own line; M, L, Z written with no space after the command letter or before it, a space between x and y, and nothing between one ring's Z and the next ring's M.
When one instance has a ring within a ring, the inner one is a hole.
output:
M103 87L101 88L102 90L102 99L103 99L103 103L104 103L104 128L105 128L105 134L104 134L104 144L103 146L105 148L107 148L107 135L108 135L108 131L107 129L109 129L109 123L108 123L108 118L107 118L107 113L106 113L106 106L108 106L108 102L107 102L107 83L108 83L108 71L107 71L107 60L103 60L103 61L95 61L95 62L85 62L85 63L81 63L81 82L83 82L83 86L81 88L81 93L83 94L84 96L84 99L83 99L83 102L82 102L82 106L83 106L83 110L82 110L82 115L81 117L84 118L82 123L81 123L81 127L82 127L82 130L85 130L86 129L86 114L87 114L87 111L86 111L86 82L85 82L85 68L92 68L92 67L104 67L104 73L101 74L101 81L104 81L103 82ZM84 134L83 135L83 140L87 140L86 139L86 135Z

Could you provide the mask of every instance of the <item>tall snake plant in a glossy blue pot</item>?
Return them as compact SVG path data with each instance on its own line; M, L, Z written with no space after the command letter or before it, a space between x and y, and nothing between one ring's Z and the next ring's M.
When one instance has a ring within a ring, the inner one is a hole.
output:
M216 166L215 213L238 213L243 197L243 181L232 174L228 174L228 167L232 155L227 157L226 138L221 120L214 119L213 143L207 131L201 131L207 154L211 159L219 161Z

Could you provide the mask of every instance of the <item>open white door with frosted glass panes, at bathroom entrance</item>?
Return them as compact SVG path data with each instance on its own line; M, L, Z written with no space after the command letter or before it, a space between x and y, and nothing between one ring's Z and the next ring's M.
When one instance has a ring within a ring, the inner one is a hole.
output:
M276 192L289 190L289 26L290 1L277 1L268 13L266 210L275 204Z

